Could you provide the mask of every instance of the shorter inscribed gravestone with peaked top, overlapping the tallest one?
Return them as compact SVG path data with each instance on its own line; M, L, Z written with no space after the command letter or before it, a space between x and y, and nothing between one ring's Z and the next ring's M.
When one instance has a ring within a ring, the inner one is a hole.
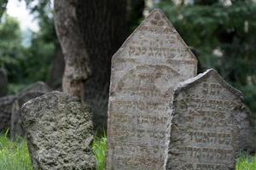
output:
M235 169L241 100L241 92L214 70L179 83L166 169Z

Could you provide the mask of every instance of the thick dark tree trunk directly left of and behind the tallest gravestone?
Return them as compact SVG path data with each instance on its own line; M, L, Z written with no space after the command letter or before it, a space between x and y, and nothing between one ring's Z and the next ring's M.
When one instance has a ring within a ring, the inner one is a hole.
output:
M126 0L78 2L79 26L92 72L85 83L85 101L94 109L96 127L107 124L111 58L127 36L126 7Z

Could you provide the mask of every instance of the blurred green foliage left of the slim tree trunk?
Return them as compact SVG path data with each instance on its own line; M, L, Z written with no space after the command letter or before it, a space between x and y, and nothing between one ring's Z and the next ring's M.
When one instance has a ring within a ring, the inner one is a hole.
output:
M15 94L36 81L49 81L55 47L58 45L50 1L27 0L27 7L38 20L40 31L26 31L31 42L26 46L19 22L3 14L0 25L0 68L8 73L9 94ZM0 3L2 4L2 3Z

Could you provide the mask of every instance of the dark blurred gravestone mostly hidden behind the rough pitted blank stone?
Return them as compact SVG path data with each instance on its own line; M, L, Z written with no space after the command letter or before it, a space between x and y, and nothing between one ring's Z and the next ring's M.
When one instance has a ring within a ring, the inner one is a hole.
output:
M24 130L21 126L20 119L20 108L28 100L36 98L40 95L48 93L52 89L44 82L35 82L22 90L20 94L17 95L13 105L12 105L12 114L11 114L11 127L10 127L10 136L11 139L15 139L15 136L24 136Z

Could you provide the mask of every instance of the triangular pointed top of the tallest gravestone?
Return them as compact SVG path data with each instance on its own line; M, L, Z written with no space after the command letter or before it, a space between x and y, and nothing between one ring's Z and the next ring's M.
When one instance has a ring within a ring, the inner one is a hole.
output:
M160 48L160 50L172 48L173 54L168 54L169 56L167 56L167 58L190 60L197 63L195 55L191 52L183 41L183 38L180 37L170 20L167 19L166 14L164 14L160 8L154 8L154 10L148 14L140 26L125 40L117 53L113 55L113 59L116 57L124 58L125 55L122 54L123 51L131 45L140 47L152 47L152 45L154 45L155 48ZM146 48L142 50L140 50L140 48L137 49L143 53ZM160 52L156 51L154 51L154 53L160 54Z

